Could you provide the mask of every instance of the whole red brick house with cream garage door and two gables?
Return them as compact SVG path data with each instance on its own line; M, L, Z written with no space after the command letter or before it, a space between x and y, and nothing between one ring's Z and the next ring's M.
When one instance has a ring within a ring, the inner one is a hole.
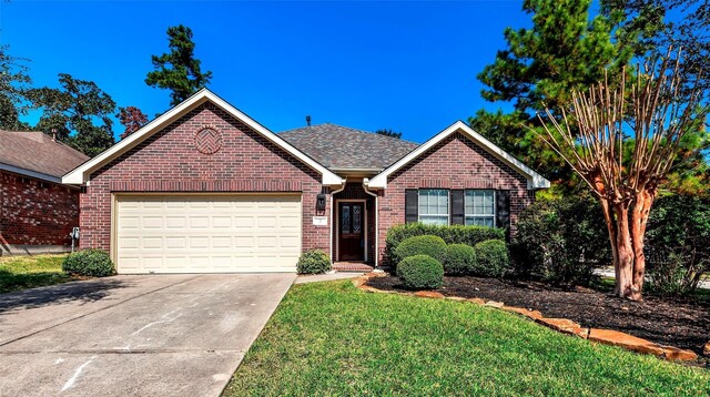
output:
M202 90L63 177L81 247L119 273L293 272L300 254L377 265L405 222L515 228L549 182L457 122L422 145L321 124L275 134Z

